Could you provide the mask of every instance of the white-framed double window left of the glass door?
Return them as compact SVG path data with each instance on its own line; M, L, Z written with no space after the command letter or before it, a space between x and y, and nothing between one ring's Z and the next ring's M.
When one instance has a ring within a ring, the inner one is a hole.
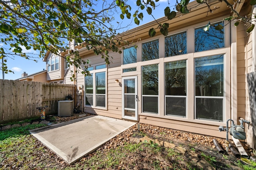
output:
M86 106L106 107L106 64L89 67L85 77Z

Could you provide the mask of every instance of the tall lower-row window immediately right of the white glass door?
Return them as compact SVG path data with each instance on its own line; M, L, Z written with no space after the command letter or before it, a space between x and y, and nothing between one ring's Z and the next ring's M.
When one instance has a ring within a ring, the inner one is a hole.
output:
M142 112L158 113L158 64L142 66Z

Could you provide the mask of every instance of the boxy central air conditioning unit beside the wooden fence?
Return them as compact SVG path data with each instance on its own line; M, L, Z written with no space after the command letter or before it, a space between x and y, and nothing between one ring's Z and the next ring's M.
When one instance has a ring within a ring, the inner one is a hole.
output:
M60 100L58 101L58 116L72 116L74 113L73 100Z

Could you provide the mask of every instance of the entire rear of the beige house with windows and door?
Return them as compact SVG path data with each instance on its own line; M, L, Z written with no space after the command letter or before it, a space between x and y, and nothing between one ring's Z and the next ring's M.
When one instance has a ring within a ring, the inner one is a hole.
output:
M233 21L223 20L232 15L224 2L210 4L213 12L202 4L173 20L160 18L159 23L170 25L166 37L148 36L156 21L127 31L122 38L130 45L124 46L122 54L109 52L109 65L86 47L73 46L82 59L90 61L92 76L79 70L75 74L83 110L223 138L226 133L218 127L226 127L228 119L235 124L239 117L250 121L246 74L256 69L256 31L248 34L250 25L235 27ZM254 10L248 3L238 7L244 14ZM211 26L204 31L209 21L223 29ZM70 76L66 74L66 83L73 84ZM252 126L248 128L247 142L252 145Z

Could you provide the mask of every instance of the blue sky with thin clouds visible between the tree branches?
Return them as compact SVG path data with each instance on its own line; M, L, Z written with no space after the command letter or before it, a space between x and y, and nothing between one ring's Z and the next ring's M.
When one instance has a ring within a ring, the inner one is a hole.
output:
M169 0L169 2L171 3L169 5L169 7L174 8L174 4L176 1L174 0ZM137 10L137 6L136 6L136 0L129 0L129 4L132 7L132 12L131 14L134 13L135 10ZM156 7L156 10L152 11L152 14L154 15L154 17L156 19L161 18L164 16L164 8L166 8L166 6L168 6L168 0L159 0L158 2L156 2L156 5L159 5ZM152 18L152 16L149 16L146 12L146 8L144 9L144 18L143 21L140 21L140 25L148 23L152 20L154 20L154 18ZM120 19L119 15L116 16L115 18L118 18L118 20ZM120 19L121 21L121 19ZM128 20L127 22L130 22L131 20ZM123 23L126 23L125 19L122 20ZM140 26L139 25L139 26ZM132 29L134 27L137 27L138 25L136 25L135 23L132 22L132 25L128 28L128 29ZM0 43L0 47L4 46L4 44ZM26 49L25 49L26 50ZM34 50L26 50L26 53L31 53L33 57L36 57L36 55L33 54L38 54L38 51L34 51ZM36 60L38 62L35 62L33 60L28 60L28 59L24 59L22 57L14 57L13 59L8 58L7 59L7 66L8 69L14 71L13 73L8 73L8 74L4 74L4 79L6 80L16 80L18 78L21 78L21 74L23 72L26 72L28 75L33 74L35 72L39 72L42 71L43 69L46 69L46 62L42 61L42 58L36 58ZM1 61L0 61L1 62ZM0 79L2 78L2 72L0 74Z

